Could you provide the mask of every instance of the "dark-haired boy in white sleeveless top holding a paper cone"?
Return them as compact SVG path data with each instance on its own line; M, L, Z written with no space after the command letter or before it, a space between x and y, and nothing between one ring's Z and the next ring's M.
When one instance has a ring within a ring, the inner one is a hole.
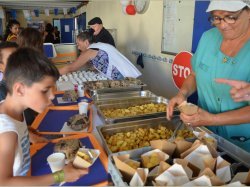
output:
M57 68L34 49L20 48L8 58L7 96L0 103L0 186L47 186L73 182L87 173L68 164L52 174L26 176L30 168L30 144L23 111L31 108L41 113L51 105L52 88L58 77Z

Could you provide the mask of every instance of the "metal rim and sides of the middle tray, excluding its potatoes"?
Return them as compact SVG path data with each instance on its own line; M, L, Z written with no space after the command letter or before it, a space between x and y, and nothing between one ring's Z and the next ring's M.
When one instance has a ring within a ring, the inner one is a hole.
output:
M143 105L143 104L166 104L168 100L164 97L148 97L148 98L131 98L131 99L120 99L120 100L106 100L102 101L101 104L96 104L97 112L100 115L100 118L103 120L104 123L118 123L118 122L126 122L126 121L133 121L133 120L140 120L145 118L152 118L152 117L159 117L159 116L166 116L166 112L156 112L156 113L149 113L149 114L142 114L137 116L126 116L126 117L118 117L118 118L107 118L103 113L103 109L118 109L118 108L128 108L131 106Z

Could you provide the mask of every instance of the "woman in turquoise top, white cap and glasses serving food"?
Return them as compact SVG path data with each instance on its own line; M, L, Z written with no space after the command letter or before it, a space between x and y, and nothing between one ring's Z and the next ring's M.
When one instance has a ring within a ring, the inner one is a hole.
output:
M250 4L246 1L211 0L207 12L215 28L205 32L192 57L192 72L167 108L167 118L173 108L195 91L199 110L188 116L181 113L184 123L206 126L250 152L250 106L235 102L231 87L215 81L218 78L250 82Z

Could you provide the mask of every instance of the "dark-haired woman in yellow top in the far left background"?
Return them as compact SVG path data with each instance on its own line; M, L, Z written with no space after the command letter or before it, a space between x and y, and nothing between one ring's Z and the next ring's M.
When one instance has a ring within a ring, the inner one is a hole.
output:
M4 35L4 41L16 42L19 34L19 27L20 23L17 20L10 20L6 28L6 33Z

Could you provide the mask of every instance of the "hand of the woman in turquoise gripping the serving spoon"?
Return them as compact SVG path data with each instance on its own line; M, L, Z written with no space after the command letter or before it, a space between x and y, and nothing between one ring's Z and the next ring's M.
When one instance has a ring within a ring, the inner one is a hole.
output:
M180 105L183 101L186 101L186 97L184 94L179 92L176 96L174 96L167 105L167 119L170 120L173 117L174 107Z

